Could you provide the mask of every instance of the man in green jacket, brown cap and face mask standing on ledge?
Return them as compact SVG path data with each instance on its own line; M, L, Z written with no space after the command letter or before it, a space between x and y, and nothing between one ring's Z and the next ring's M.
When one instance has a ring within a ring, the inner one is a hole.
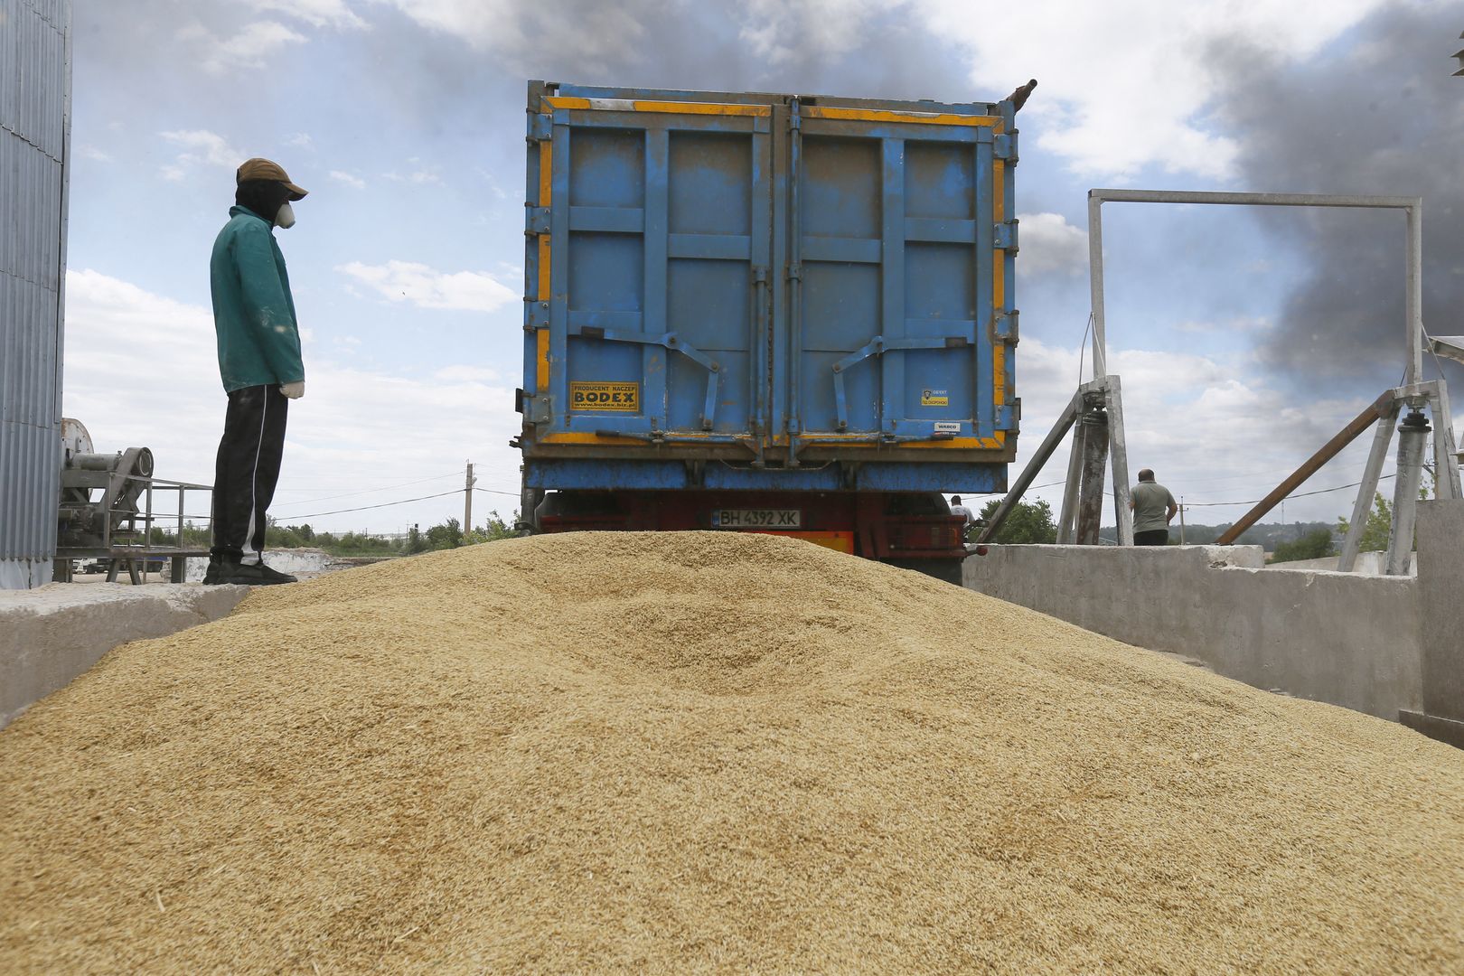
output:
M258 158L239 167L236 183L234 206L208 265L228 410L214 471L214 544L203 582L294 582L264 563L264 549L287 407L305 395L300 329L274 228L294 225L290 202L305 190L278 164Z

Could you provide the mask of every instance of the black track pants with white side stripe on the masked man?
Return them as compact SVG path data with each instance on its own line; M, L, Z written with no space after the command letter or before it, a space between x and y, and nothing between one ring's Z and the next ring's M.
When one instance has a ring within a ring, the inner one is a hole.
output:
M265 550L265 511L274 499L284 455L290 401L278 383L244 386L228 395L224 438L214 468L214 547L227 562L259 562Z

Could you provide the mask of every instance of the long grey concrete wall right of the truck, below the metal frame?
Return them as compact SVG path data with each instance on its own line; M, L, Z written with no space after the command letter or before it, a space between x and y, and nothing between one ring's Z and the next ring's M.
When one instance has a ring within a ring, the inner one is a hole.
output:
M1259 546L991 546L965 585L1258 688L1392 721L1420 708L1417 579L1263 565Z

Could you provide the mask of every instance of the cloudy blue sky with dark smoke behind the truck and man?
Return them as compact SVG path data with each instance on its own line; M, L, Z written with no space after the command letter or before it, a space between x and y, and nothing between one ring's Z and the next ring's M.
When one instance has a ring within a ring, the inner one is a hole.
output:
M1424 0L75 0L66 413L98 449L212 480L208 253L234 167L264 155L310 190L277 231L307 392L272 514L436 522L473 459L476 521L507 515L526 79L972 101L1037 78L1025 462L1079 378L1089 187L1423 195L1424 320L1464 332L1461 29ZM1401 375L1401 214L1108 205L1104 237L1130 465L1192 521L1239 517ZM1356 481L1364 452L1306 489ZM1285 518L1350 506L1313 495Z

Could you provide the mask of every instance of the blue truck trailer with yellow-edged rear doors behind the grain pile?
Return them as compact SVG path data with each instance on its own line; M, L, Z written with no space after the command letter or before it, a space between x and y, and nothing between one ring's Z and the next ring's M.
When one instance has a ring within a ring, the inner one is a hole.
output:
M523 518L957 578L1016 454L1012 101L529 83Z

